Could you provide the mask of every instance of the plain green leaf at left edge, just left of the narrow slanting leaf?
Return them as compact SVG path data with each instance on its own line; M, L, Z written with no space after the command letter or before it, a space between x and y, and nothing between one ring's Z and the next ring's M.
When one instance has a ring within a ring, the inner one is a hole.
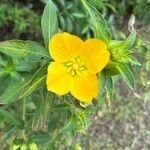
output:
M28 84L28 80L22 79L19 82L10 84L0 96L0 101L4 103L11 103L19 98L21 91Z

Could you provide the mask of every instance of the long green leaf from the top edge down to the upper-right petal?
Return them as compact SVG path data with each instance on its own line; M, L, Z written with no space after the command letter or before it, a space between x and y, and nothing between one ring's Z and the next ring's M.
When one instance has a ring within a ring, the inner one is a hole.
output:
M96 38L102 39L108 44L111 39L111 34L109 32L108 26L104 18L98 12L98 10L92 5L90 5L86 0L81 0L81 1L83 3L83 6L87 9L91 17L91 23L92 23Z

